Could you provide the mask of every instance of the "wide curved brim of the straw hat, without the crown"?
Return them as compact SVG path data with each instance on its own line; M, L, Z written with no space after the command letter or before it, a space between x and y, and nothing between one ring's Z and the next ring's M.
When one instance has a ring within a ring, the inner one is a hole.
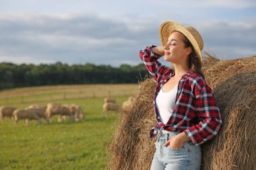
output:
M173 22L173 21L166 21L163 22L159 28L159 36L160 36L160 41L162 43L162 46L166 46L167 42L168 42L168 38L170 36L170 34L172 34L172 32L181 32L182 34L184 34L184 36L187 37L187 39L189 39L189 41L191 42L195 53L197 54L197 56L199 56L201 62L202 62L202 54L201 54L201 50L199 48L199 45L197 44L197 41L195 40L195 38L192 36L192 34L181 24L177 23L177 22Z

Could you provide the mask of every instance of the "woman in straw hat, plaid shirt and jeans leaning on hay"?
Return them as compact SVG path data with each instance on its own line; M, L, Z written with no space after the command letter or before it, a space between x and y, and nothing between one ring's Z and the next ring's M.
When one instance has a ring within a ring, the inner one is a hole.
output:
M160 26L162 46L139 52L157 82L154 112L157 123L150 138L157 136L152 170L200 169L200 144L216 136L222 124L212 89L201 71L203 40L191 26L173 21ZM172 62L174 70L158 58Z

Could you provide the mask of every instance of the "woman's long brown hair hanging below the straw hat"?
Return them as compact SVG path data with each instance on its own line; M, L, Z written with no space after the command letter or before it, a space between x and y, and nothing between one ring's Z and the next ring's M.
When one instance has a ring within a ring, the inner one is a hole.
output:
M189 56L189 69L195 71L195 73L199 74L203 79L205 79L205 76L203 75L203 71L201 71L202 68L202 62L199 59L199 56L195 53L195 50L186 36L184 36L184 43L185 43L185 48L191 47L192 52L190 53Z

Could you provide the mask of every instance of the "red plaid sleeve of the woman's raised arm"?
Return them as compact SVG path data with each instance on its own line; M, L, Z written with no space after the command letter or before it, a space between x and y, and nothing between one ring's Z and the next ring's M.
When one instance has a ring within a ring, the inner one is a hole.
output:
M143 61L146 69L150 72L150 75L157 80L158 77L161 77L166 70L170 69L158 61L158 58L161 56L152 51L153 47L155 46L147 46L145 49L140 50L139 57Z

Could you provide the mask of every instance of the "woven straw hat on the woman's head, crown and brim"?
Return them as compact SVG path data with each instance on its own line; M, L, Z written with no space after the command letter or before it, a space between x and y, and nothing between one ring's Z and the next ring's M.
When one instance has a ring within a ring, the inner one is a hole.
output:
M166 45L170 34L176 31L181 32L182 34L184 34L184 36L187 37L187 39L189 39L195 50L195 53L197 54L197 56L199 56L202 62L203 59L201 50L203 49L203 39L201 38L199 32L197 32L197 30L195 30L195 28L191 26L182 26L181 24L173 21L163 22L159 28L159 36L162 46Z

